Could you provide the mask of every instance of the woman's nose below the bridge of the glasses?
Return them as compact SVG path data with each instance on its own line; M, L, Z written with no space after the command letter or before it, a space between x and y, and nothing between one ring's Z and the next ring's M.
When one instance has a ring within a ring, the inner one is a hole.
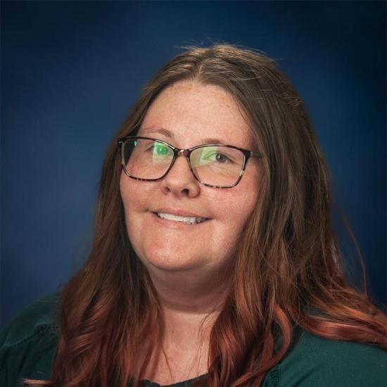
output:
M160 180L160 183L164 194L172 192L175 196L194 198L201 190L200 183L195 179L188 160L183 155L177 156L170 172Z

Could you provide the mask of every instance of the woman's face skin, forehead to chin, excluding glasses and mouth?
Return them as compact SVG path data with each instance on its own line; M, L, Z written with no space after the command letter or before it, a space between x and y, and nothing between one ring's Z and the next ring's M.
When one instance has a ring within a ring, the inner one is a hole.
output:
M255 150L248 124L231 94L193 81L164 89L148 109L138 135L178 148L210 144L211 138ZM178 157L158 182L130 179L122 171L120 193L127 233L149 272L196 269L201 273L227 267L258 199L258 162L250 158L239 184L228 189L198 182L184 157ZM157 215L173 211L209 220L189 225Z

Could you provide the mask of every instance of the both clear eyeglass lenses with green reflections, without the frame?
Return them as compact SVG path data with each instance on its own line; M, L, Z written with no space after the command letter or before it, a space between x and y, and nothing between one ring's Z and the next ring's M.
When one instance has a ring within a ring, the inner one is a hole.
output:
M124 163L129 175L138 179L159 179L165 175L173 160L173 150L158 141L127 139L124 144ZM232 185L243 167L243 153L227 146L202 146L191 152L191 167L205 184Z

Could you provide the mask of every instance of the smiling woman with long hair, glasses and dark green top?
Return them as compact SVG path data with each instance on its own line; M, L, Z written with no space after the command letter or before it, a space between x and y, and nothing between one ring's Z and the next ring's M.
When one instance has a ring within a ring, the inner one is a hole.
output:
M345 283L330 205L272 60L181 53L110 144L89 260L4 329L1 385L382 386L387 319Z

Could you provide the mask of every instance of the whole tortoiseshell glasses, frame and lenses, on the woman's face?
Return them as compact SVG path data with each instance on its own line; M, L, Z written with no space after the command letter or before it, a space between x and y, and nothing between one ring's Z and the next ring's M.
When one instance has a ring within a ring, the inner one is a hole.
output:
M259 152L232 145L205 144L179 149L150 137L118 139L124 172L132 179L156 182L170 172L178 156L184 156L195 179L205 186L231 188L241 181L250 157Z

